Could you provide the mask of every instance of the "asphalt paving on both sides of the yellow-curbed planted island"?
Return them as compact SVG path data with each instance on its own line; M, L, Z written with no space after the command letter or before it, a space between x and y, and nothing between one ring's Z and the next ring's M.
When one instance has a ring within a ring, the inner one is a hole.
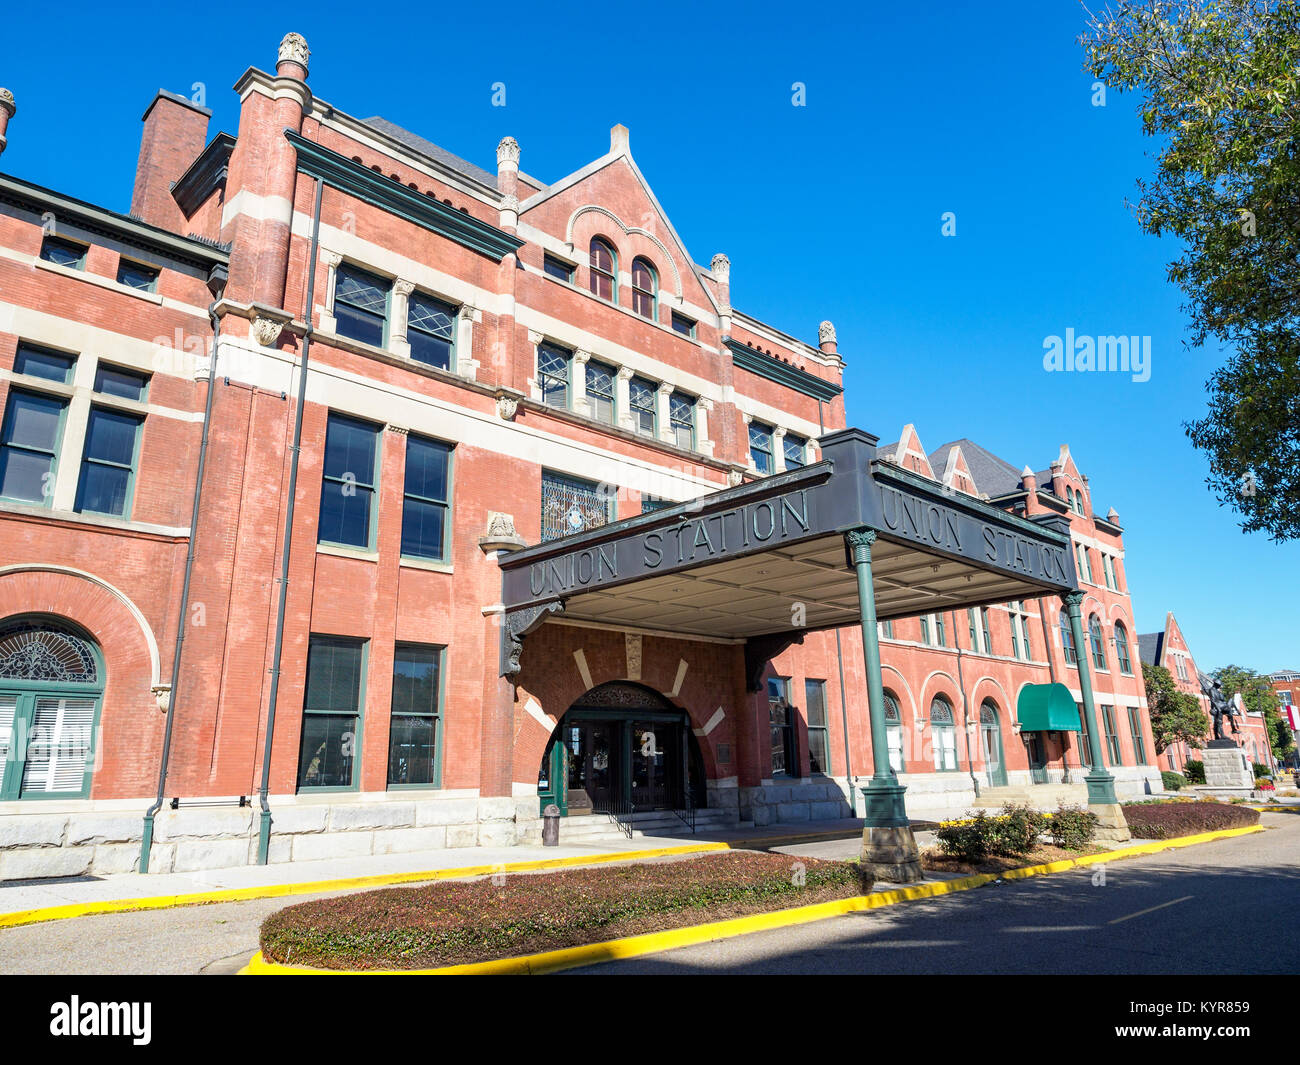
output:
M905 902L577 973L1295 973L1300 815L1270 831L1093 870ZM857 843L781 848L846 857ZM338 892L334 892L338 893ZM234 973L270 913L308 897L0 930L0 974Z

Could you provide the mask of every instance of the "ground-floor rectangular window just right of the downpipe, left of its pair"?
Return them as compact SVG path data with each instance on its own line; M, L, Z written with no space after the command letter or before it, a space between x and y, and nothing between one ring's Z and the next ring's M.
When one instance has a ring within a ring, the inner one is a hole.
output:
M364 651L364 640L311 637L298 756L299 788L352 787Z

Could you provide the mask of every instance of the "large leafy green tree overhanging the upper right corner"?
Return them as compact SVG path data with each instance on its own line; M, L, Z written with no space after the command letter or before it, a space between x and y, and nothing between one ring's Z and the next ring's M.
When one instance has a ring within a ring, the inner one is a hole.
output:
M1184 425L1247 532L1300 537L1300 0L1124 0L1089 13L1093 77L1158 148L1135 215L1176 238L1191 343L1230 351Z

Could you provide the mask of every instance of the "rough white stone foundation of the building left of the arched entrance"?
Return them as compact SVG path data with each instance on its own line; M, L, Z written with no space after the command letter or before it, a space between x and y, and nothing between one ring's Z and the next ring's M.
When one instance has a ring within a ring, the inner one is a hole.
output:
M114 804L117 805L117 804ZM0 814L0 880L133 873L144 809ZM537 798L270 801L269 861L303 862L447 847L540 844ZM257 861L256 806L164 808L153 822L150 873L192 873Z

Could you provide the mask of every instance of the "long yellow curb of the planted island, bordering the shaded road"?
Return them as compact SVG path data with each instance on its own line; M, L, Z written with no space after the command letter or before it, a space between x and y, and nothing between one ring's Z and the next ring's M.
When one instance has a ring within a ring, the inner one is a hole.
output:
M816 902L811 906L796 906L786 910L772 910L771 913L757 913L749 917L734 917L728 921L715 921L708 925L690 925L684 928L670 928L664 932L646 932L644 935L627 936L624 939L611 939L604 943L586 943L581 947L566 947L560 951L543 951L537 954L523 954L515 958L498 958L495 961L471 962L468 965L448 965L441 969L309 969L302 965L281 965L269 961L259 951L248 964L239 970L242 977L346 977L346 975L373 975L373 977L488 977L488 975L538 975L541 973L558 973L562 969L576 969L582 965L595 965L602 961L616 958L632 958L641 954L655 954L662 951L672 951L679 947L693 947L699 943L714 943L722 939L731 939L750 932L770 931L772 928L786 928L794 925L806 925L811 921L824 921L828 917L841 917L846 913L861 913L875 910L883 906L893 906L914 899L936 899L941 895L952 895L958 891L970 891L983 887L996 880L1020 880L1030 876L1043 876L1048 873L1062 873L1076 866L1087 866L1097 862L1109 862L1115 858L1131 858L1141 854L1154 854L1160 850L1170 850L1178 847L1191 847L1197 843L1210 843L1232 836L1244 836L1252 832L1262 832L1262 826L1253 824L1248 828L1223 828L1217 832L1201 832L1196 836L1179 836L1171 840L1152 840L1122 850L1108 850L1101 854L1083 854L1078 858L1062 858L1058 862L1045 865L1031 865L1022 869L1009 869L1005 873L976 873L971 876L961 876L953 880L939 880L931 884L915 884L914 887L892 888L889 891L874 891L871 895L855 895L852 899L836 899L829 902Z

